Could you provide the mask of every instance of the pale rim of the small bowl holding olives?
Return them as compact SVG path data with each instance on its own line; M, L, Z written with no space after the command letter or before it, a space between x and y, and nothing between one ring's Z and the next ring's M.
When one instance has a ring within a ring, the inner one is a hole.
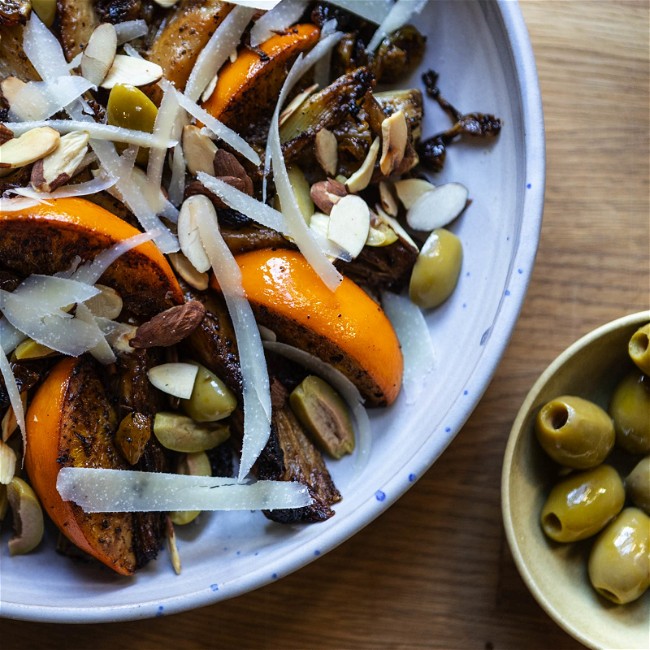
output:
M517 412L517 416L515 417L514 423L508 435L508 442L506 444L503 466L501 470L501 513L503 517L503 526L505 529L506 538L508 540L508 546L510 547L510 552L522 580L540 607L555 621L559 627L561 627L565 632L573 636L576 640L580 641L580 643L584 644L585 646L598 650L605 649L600 646L598 642L593 639L593 637L589 636L588 633L585 633L583 630L567 622L563 617L562 612L554 607L546 597L545 593L537 587L537 583L528 568L528 563L524 559L524 553L522 552L519 545L519 540L517 539L515 530L516 527L512 518L512 507L510 500L510 474L514 460L515 449L519 440L521 439L521 436L524 434L524 423L527 420L532 404L535 402L539 393L546 386L549 379L555 375L555 373L567 362L568 359L573 357L578 351L584 349L589 344L612 332L630 328L634 325L641 326L649 321L650 310L643 310L635 312L633 314L628 314L626 316L621 316L620 318L616 318L587 332L579 339L571 343L571 345L569 345L557 357L555 357L555 359L553 359L553 361L546 367L546 369L532 385L531 389L526 394L526 397L524 398L519 411Z

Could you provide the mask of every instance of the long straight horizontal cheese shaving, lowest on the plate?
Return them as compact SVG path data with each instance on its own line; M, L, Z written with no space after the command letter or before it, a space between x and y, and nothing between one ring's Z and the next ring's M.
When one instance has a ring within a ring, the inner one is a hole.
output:
M239 483L219 476L62 467L56 488L84 512L277 510L311 504L309 490L292 481Z

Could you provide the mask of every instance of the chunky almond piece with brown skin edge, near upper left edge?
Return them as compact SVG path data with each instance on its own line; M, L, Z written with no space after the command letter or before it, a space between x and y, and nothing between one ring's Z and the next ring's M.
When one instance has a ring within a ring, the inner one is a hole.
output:
M61 136L59 146L34 164L31 176L34 189L52 192L65 185L81 168L88 152L89 140L86 131L73 131Z

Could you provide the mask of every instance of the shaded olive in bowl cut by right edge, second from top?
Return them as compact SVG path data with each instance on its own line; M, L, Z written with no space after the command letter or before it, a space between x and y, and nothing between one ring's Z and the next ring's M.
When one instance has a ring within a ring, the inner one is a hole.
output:
M624 377L614 390L609 412L616 444L631 454L650 453L650 377L638 370Z

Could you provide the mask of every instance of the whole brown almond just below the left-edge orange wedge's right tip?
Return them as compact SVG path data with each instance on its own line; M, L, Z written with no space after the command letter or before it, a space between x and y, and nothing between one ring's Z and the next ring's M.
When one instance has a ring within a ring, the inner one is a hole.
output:
M198 300L170 307L138 327L131 339L132 348L169 347L188 337L205 316L205 307Z

